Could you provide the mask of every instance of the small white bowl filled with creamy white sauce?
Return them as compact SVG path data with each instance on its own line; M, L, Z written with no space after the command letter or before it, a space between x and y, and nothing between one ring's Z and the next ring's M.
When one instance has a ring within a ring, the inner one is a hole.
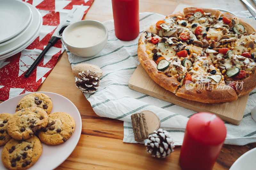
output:
M99 21L78 21L65 28L62 41L71 53L86 58L92 57L106 46L108 29Z

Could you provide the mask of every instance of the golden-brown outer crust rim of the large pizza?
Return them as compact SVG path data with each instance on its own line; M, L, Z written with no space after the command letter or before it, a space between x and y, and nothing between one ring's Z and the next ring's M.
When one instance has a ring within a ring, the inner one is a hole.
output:
M202 9L204 12L212 13L216 18L219 18L220 16L225 16L229 19L237 18L234 15L230 13L221 13L219 10L214 9L208 9L208 8L196 8L196 7L189 7L184 8L183 14L181 12L175 12L171 15L168 15L167 17L172 16L181 16L184 18L187 14L194 13L196 9ZM166 17L166 18L167 18ZM163 18L164 19L164 18ZM255 30L247 24L245 21L243 21L240 18L237 18L239 22L243 25L245 25L247 31L249 34L255 32ZM149 29L145 30L149 31ZM207 91L206 89L200 89L200 92L197 92L197 88L193 88L190 90L187 90L185 87L180 87L180 82L174 77L168 77L161 71L157 70L157 65L153 60L150 60L148 58L148 54L146 53L146 44L145 44L145 38L146 33L143 32L140 36L139 43L138 43L138 58L140 60L141 65L146 70L150 78L155 81L158 85L163 87L164 89L167 89L171 91L172 93L175 93L176 96L198 101L201 103L225 103L225 102L231 102L237 99L237 96L242 96L244 94L247 94L252 89L256 87L256 72L249 76L248 78L238 80L238 82L244 81L243 89L240 90L234 90L230 88L228 85L225 85L224 88L218 89L218 87L215 87L212 89L212 91Z

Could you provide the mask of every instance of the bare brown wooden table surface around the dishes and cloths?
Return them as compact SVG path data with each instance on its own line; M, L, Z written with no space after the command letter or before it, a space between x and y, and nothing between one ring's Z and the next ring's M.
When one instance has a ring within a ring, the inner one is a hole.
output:
M256 8L252 0L248 1ZM168 15L178 4L228 11L246 10L239 0L140 0L140 12ZM101 22L113 19L111 1L94 0L84 19ZM97 116L82 92L75 87L74 81L67 53L64 52L38 89L67 97L76 105L82 117L80 140L68 159L56 169L181 169L178 163L180 147L176 147L166 159L156 159L146 152L142 144L123 143L123 122ZM213 169L229 169L237 158L254 147L256 143L244 146L224 145Z

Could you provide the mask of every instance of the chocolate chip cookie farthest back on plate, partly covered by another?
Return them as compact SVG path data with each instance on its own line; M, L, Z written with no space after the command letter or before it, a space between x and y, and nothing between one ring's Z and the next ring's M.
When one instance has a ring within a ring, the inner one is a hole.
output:
M29 107L40 107L44 109L47 114L50 114L52 110L52 100L43 93L31 93L20 100L16 106L16 111Z

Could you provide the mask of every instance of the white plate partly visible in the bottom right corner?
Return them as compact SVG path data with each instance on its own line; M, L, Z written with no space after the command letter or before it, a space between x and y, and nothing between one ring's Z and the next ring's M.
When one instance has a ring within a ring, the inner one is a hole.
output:
M229 170L255 170L256 169L256 148L245 152L240 156Z

